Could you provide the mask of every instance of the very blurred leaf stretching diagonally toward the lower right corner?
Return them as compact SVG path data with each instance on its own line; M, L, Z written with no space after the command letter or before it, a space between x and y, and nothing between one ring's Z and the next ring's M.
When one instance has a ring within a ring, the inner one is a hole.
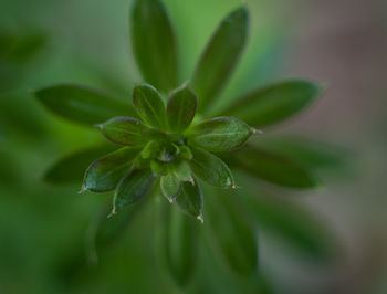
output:
M315 214L300 204L265 196L257 186L248 187L254 192L243 195L244 200L260 228L314 260L328 262L337 256L334 233Z

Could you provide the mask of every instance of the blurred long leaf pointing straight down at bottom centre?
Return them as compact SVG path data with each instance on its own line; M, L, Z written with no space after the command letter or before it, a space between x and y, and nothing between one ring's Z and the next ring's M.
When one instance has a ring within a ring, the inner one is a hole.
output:
M191 280L198 255L198 222L176 206L159 203L157 251L160 265L179 287Z

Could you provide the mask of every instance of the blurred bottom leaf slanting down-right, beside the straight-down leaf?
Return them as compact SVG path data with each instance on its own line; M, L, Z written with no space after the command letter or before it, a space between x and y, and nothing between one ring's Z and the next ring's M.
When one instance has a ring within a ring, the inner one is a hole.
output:
M213 253L237 274L251 276L258 265L255 229L236 190L206 187L205 228Z

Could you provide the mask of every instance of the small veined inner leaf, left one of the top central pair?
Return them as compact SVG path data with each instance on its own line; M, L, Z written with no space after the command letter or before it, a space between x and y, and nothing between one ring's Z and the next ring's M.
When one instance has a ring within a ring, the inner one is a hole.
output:
M165 104L153 86L147 84L135 86L133 105L138 116L149 126L163 129L167 127Z

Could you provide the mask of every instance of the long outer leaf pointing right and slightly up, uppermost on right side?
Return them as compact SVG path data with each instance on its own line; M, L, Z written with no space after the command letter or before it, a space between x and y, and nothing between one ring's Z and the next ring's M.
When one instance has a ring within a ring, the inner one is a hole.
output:
M262 127L284 120L305 108L321 92L307 81L286 81L243 95L220 115L236 116Z

